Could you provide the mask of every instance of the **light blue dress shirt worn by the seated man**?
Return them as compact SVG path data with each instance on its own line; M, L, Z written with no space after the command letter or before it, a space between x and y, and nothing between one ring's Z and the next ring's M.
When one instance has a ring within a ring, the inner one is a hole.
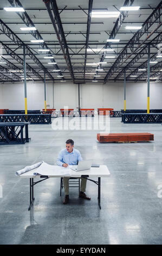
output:
M67 149L62 149L57 157L56 163L58 166L62 166L63 163L76 165L78 161L82 161L79 150L73 149L72 153L69 153Z

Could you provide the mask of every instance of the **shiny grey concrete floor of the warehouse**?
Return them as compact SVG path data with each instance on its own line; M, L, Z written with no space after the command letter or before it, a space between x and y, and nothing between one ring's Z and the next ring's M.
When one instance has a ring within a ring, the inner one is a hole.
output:
M111 118L111 132L151 132L154 142L100 144L98 131L30 125L29 143L1 146L0 244L162 243L162 126ZM41 160L55 164L68 138L74 139L83 159L93 157L111 172L101 179L102 209L94 183L87 182L90 201L79 199L77 188L70 188L70 203L63 205L60 179L51 178L35 186L34 207L28 211L29 180L15 176L16 170Z

